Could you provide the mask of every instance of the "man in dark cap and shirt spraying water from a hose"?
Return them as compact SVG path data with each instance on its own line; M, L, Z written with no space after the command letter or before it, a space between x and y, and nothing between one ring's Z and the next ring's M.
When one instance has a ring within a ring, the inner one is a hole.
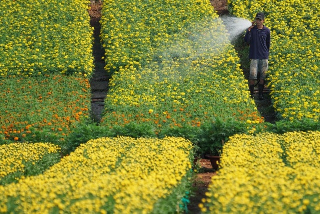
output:
M258 72L260 73L259 81L259 99L264 100L263 89L266 72L268 70L268 59L270 50L270 29L263 25L264 14L258 12L255 16L255 20L252 22L245 33L244 41L250 45L249 58L250 64L250 77L249 77L249 89L251 97L253 98L254 81L257 79Z

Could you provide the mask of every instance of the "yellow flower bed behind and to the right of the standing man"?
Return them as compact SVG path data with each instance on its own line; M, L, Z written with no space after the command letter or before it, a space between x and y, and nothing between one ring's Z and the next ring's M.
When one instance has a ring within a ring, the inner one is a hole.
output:
M275 110L285 120L320 119L320 1L229 0L234 15L266 14L271 29L269 77ZM252 8L254 10L252 10Z

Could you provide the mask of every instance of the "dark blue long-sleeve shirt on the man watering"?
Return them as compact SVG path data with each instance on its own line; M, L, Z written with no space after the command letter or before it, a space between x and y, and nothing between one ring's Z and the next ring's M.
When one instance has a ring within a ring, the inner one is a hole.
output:
M262 29L254 26L246 30L244 41L250 44L250 59L269 59L271 32L263 25Z

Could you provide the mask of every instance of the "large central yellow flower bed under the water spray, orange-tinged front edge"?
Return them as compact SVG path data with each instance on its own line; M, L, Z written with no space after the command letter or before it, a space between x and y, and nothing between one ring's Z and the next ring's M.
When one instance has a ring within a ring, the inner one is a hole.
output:
M105 111L102 124L150 122L159 132L163 126L201 126L214 117L263 122L237 53L208 2L165 1L165 8L161 1L103 3L106 69L113 75L105 99L112 111Z

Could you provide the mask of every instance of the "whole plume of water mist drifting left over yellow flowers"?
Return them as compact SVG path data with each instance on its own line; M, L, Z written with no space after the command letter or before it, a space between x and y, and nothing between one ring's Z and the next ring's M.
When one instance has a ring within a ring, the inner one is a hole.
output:
M183 42L174 41L171 47L168 47L159 55L168 61L172 61L171 58L184 58L181 63L184 63L182 67L186 68L190 66L191 61L200 57L209 57L208 55L212 56L212 54L219 55L234 39L241 37L241 34L251 25L252 23L249 20L231 16L222 16L217 19L206 20L203 23L196 23L190 28L190 35L181 40ZM190 73L191 69L177 70L178 72L175 71L174 74L169 76L164 76L160 71L157 72L157 81L161 82L164 78L179 81L180 77L192 75ZM144 76L144 78L147 78L147 76ZM150 78L154 79L153 76Z

